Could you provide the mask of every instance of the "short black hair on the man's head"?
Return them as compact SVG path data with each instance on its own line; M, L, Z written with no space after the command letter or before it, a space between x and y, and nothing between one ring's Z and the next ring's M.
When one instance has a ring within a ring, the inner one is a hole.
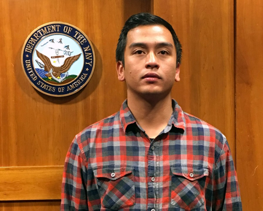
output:
M164 19L160 18L159 16L152 15L150 13L138 13L132 15L125 22L121 30L121 34L116 48L116 62L121 61L124 65L124 51L127 42L127 34L130 30L141 25L163 25L164 27L166 27L171 32L172 38L174 40L174 45L176 48L176 63L181 64L181 56L182 56L181 43L179 42L179 39L173 27Z

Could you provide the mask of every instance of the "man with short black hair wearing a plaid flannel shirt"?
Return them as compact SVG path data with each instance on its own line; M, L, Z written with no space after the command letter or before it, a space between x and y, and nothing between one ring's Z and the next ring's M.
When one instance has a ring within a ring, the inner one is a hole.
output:
M116 62L127 100L73 140L61 210L242 210L225 136L171 98L181 62L172 26L131 16Z

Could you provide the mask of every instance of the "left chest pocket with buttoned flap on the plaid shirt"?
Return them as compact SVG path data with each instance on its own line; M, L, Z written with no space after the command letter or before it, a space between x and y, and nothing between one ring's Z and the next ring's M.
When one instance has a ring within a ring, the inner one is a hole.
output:
M94 170L102 207L119 210L135 204L133 167L100 166Z

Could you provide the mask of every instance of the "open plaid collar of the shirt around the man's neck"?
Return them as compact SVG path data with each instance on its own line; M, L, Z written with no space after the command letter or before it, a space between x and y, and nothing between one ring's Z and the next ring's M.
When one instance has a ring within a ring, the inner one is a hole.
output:
M172 99L172 107L173 107L173 113L172 113L172 116L167 126L174 125L174 127L181 128L184 130L185 129L184 112L182 111L181 107L178 105L178 103L174 99ZM137 123L133 114L131 113L128 107L127 99L123 102L121 109L120 109L120 121L121 121L123 130L125 132L129 125L133 123Z

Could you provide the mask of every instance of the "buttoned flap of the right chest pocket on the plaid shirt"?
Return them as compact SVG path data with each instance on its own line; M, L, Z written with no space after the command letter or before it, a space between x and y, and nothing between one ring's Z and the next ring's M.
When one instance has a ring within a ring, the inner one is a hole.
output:
M174 175L183 176L191 181L208 176L207 166L178 164L170 166L170 168Z

